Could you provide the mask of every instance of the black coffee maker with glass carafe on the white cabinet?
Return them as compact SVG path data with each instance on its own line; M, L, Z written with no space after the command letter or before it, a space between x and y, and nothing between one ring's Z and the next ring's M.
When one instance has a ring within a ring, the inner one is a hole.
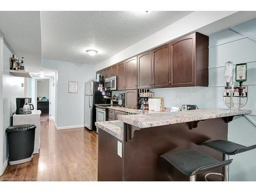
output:
M16 114L31 114L34 105L31 104L32 98L16 98Z

